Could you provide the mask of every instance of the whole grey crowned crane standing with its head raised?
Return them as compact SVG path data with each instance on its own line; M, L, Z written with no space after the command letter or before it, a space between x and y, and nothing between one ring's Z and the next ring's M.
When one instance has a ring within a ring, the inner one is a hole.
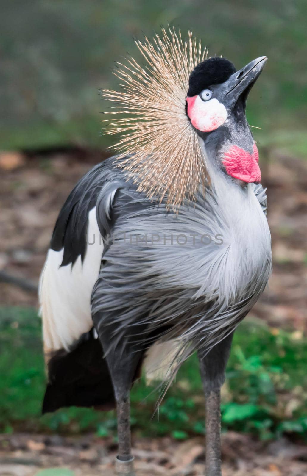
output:
M133 473L130 389L164 388L197 351L206 475L221 475L220 388L236 326L266 287L271 241L247 95L262 56L236 71L189 33L117 64L106 133L117 155L88 172L57 219L41 274L43 412L117 408L119 474Z

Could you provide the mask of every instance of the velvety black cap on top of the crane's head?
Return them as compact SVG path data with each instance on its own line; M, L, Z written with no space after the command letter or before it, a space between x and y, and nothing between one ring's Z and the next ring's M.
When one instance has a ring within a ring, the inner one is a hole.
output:
M199 63L190 74L187 96L196 96L213 84L224 83L235 71L235 66L225 58L209 58Z

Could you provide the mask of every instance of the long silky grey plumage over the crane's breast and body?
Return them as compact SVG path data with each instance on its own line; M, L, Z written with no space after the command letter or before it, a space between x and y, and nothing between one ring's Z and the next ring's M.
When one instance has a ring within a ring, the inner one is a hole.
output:
M143 345L161 328L161 337L176 337L186 347L181 358L199 347L207 352L234 330L266 286L271 255L263 188L240 188L221 176L219 191L200 189L195 203L174 216L126 181L113 159L97 173L103 187L96 216L108 243L92 292L92 315L101 316L97 332L103 333L107 313L117 324L110 346L124 339L127 326L138 325L141 333L130 338Z

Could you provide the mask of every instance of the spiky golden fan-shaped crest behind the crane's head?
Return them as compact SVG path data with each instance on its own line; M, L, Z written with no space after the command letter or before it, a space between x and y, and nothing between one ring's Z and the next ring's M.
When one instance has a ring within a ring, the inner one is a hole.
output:
M188 81L194 67L207 58L207 49L191 31L183 41L180 31L162 29L152 41L135 41L146 64L133 58L117 63L113 71L121 90L102 90L113 102L105 114L106 134L120 134L112 147L138 190L148 198L166 198L173 209L193 200L200 184L208 180L205 158L197 135L185 113ZM123 117L124 115L124 117ZM127 154L129 157L126 157Z

